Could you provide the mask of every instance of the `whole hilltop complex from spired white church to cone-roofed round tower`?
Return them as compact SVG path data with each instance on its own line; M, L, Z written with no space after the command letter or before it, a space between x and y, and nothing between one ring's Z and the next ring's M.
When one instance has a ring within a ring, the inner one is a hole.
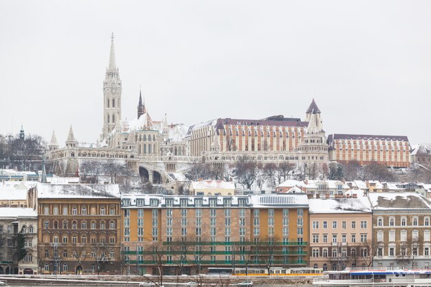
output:
M196 162L231 164L240 158L279 164L322 164L328 160L321 111L315 100L299 118L272 116L262 120L219 118L187 127L153 120L139 93L136 119L121 117L122 83L116 65L114 35L103 81L103 127L96 144L78 142L70 127L65 147L53 132L46 154L54 173L76 176L83 162L116 160L154 184L173 182Z

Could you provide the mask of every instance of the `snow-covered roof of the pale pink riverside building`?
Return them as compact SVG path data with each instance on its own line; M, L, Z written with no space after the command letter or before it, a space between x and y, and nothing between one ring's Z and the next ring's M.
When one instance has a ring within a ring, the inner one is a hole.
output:
M370 213L371 204L364 195L357 198L312 198L310 213Z

